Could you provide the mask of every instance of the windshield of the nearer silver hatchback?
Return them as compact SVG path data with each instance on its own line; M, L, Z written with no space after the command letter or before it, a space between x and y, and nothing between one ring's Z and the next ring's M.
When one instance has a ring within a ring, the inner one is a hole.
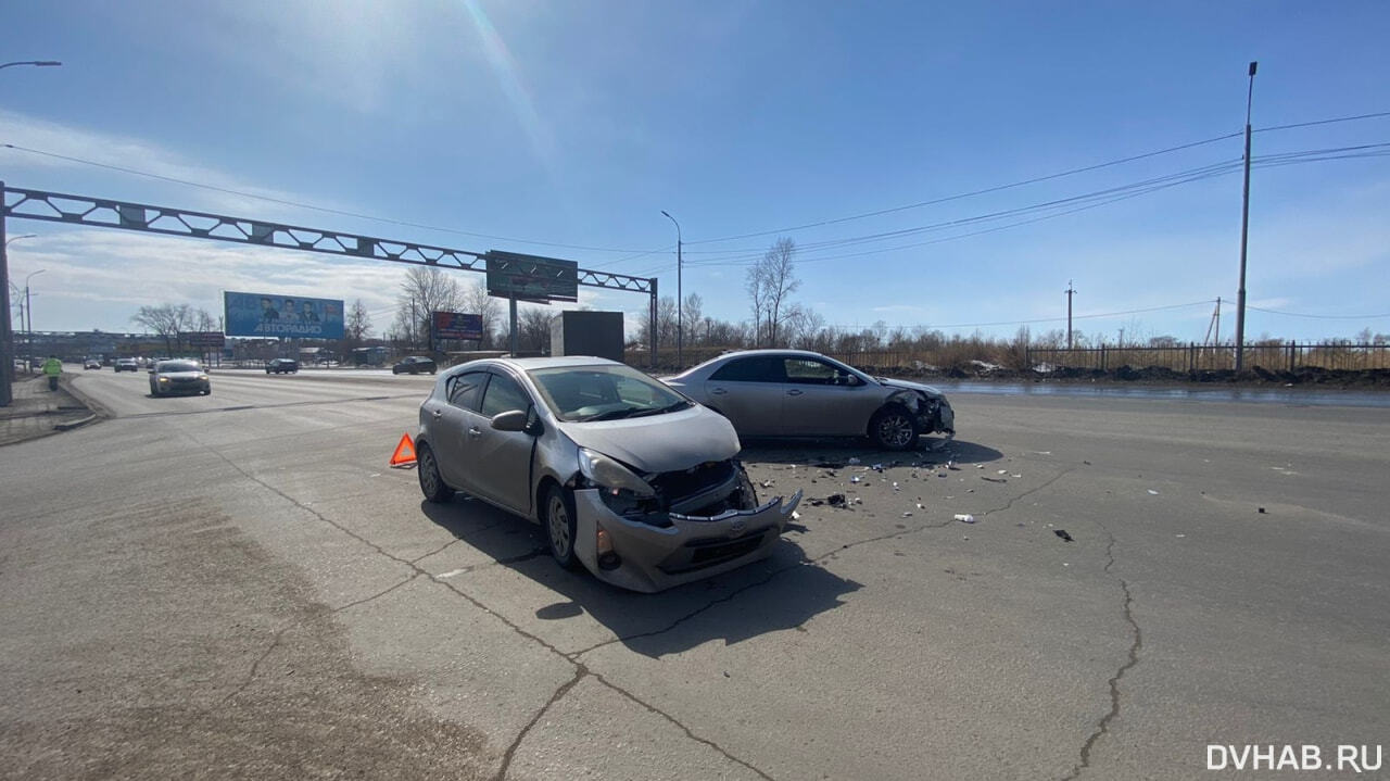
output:
M527 374L563 421L657 416L691 406L680 393L626 365L534 368Z

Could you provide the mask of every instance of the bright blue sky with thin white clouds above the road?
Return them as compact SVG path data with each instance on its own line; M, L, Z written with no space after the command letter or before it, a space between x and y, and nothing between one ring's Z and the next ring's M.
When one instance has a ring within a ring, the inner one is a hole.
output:
M684 289L726 320L748 317L744 264L790 236L795 297L828 324L1006 335L1063 317L1072 279L1087 334L1201 340L1213 299L1236 297L1238 167L1070 214L1056 213L1091 202L974 220L1236 163L1238 136L897 207L1238 133L1251 60L1257 129L1390 111L1387 29L1383 1L10 3L0 61L64 65L0 71L0 143L246 195L14 149L0 178L566 257L674 293L664 208L687 240ZM1377 143L1390 117L1257 132L1255 160ZM1390 332L1390 317L1361 317L1390 313L1386 214L1387 157L1257 167L1250 303L1320 317L1252 310L1247 334ZM128 329L161 302L215 313L222 289L361 297L379 328L404 272L11 220L21 233L38 238L10 246L13 279L44 270L38 329ZM582 303L645 307L592 289ZM1126 314L1088 317L1106 313ZM1233 322L1230 306L1227 336Z

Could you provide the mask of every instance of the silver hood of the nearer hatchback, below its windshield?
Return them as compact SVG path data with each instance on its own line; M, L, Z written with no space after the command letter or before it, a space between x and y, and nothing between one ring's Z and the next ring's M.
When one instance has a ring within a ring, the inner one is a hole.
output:
M559 422L580 447L598 450L644 472L688 470L738 454L733 424L705 407L631 420Z

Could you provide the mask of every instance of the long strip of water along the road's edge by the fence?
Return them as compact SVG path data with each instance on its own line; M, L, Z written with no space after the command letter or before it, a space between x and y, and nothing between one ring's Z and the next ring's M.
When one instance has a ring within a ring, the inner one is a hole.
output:
M1300 388L1162 388L1047 382L929 382L951 393L991 396L1087 396L1105 399L1155 399L1179 402L1227 402L1312 407L1390 407L1383 390L1314 390Z

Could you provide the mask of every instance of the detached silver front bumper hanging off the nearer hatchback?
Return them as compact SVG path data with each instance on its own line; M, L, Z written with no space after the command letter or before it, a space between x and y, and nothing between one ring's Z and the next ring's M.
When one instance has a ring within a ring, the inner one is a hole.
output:
M584 488L574 492L574 553L602 581L657 592L766 559L799 502L801 491L787 502L777 498L712 517L671 513L670 525L657 527L619 516L598 489ZM599 531L607 538L602 564Z

